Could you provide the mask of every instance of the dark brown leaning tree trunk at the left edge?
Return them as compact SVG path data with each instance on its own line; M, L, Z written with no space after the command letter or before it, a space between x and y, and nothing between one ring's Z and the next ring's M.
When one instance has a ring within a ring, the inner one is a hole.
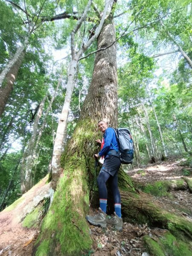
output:
M2 115L5 105L9 99L10 94L13 90L13 84L17 77L18 70L25 56L25 49L20 52L15 64L10 68L9 72L6 73L6 77L0 86L0 116Z

